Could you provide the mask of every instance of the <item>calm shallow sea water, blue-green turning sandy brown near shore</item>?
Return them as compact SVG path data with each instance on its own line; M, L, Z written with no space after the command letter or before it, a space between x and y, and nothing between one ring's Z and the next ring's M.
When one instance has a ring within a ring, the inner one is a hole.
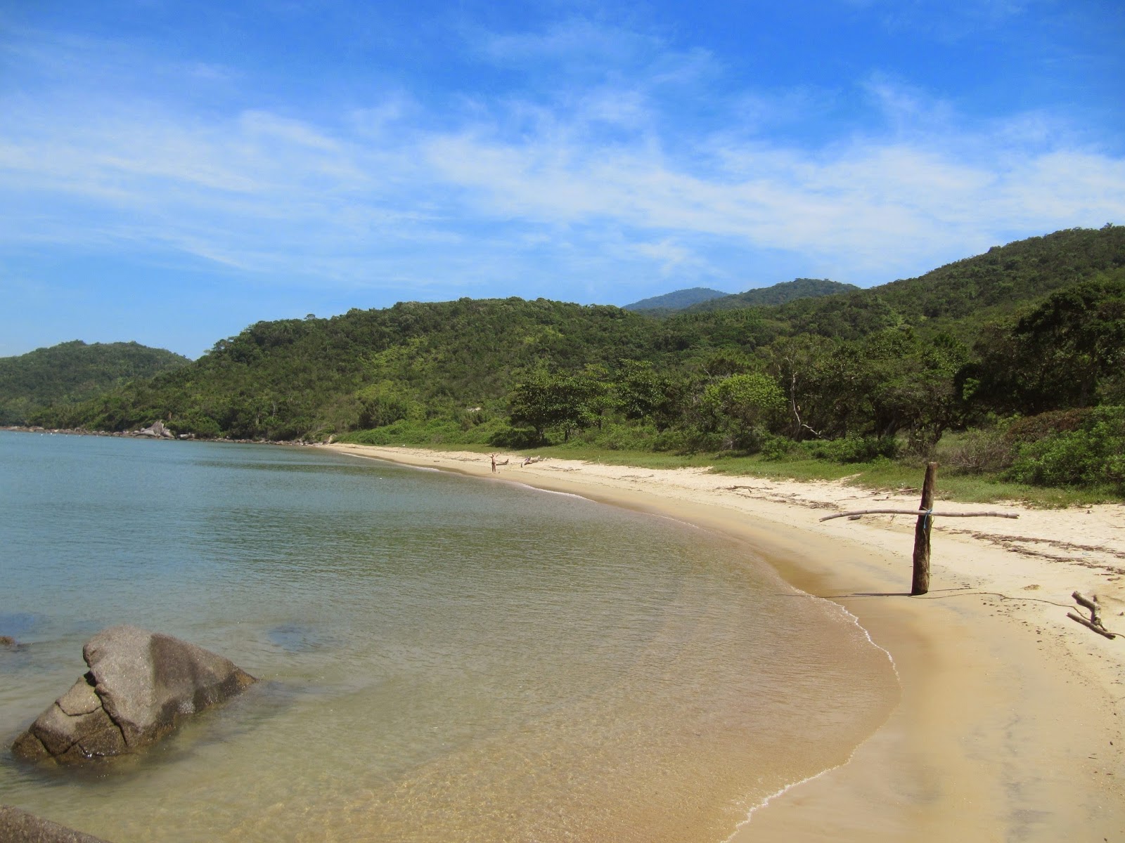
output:
M897 695L737 541L287 448L0 432L0 801L130 841L722 841ZM130 623L262 681L147 755L7 746Z

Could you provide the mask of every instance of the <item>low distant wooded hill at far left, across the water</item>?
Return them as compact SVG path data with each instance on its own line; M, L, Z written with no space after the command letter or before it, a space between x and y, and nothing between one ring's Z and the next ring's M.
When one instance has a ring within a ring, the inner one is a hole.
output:
M137 343L87 345L81 339L0 357L0 425L26 425L50 405L82 401L190 362Z

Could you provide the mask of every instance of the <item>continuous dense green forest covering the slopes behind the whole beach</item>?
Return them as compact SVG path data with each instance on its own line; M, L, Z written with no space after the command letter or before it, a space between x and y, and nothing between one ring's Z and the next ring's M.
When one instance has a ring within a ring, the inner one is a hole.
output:
M1107 226L778 306L461 299L259 323L38 420L836 463L920 461L946 437L964 473L1122 493L1123 371L1125 227Z

